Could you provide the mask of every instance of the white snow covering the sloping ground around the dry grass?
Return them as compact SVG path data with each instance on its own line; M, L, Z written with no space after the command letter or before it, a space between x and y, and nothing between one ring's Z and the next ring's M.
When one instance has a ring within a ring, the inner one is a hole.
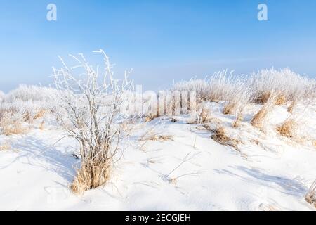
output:
M79 160L77 143L62 139L63 131L47 126L0 136L8 146L0 151L0 210L315 210L304 196L316 179L316 150L275 132L287 117L285 105L275 105L265 132L249 124L260 105L249 105L238 129L234 116L220 113L223 103L208 107L241 141L238 150L188 124L188 115L131 124L110 181L82 196L70 191ZM315 140L316 105L298 110L302 135ZM154 134L165 138L146 141Z

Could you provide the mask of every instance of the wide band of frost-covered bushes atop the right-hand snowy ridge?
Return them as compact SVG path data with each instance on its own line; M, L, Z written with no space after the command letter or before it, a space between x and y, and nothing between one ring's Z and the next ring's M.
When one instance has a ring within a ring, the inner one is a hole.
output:
M199 102L227 101L224 111L230 114L236 105L240 108L250 102L266 103L269 98L273 98L276 105L313 99L316 97L316 82L289 68L260 70L247 76L235 76L224 70L207 79L192 78L178 82L173 90L196 91Z

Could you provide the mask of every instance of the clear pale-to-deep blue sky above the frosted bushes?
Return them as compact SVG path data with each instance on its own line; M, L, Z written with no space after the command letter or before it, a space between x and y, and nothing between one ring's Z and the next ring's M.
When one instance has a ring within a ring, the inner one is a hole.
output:
M58 20L46 20L56 4ZM259 3L268 21L257 20ZM315 0L0 0L0 89L51 83L57 56L104 49L145 89L228 68L316 75Z

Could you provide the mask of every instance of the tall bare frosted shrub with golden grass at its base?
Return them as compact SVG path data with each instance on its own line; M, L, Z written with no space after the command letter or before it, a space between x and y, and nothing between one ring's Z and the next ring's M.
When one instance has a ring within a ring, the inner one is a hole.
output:
M65 129L80 145L81 168L71 186L74 193L97 188L109 179L114 155L125 137L121 105L124 94L133 88L129 72L125 72L124 79L114 79L113 65L105 52L94 52L103 55L102 72L98 66L94 69L83 54L70 55L78 63L74 67L68 67L60 58L63 67L53 68L58 102L71 123Z

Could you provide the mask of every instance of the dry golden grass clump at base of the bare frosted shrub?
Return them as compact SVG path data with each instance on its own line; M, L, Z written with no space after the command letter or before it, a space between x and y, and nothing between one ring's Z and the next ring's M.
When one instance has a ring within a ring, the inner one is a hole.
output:
M111 160L85 160L81 168L77 170L70 188L74 193L82 194L93 188L102 186L110 179L112 171Z

